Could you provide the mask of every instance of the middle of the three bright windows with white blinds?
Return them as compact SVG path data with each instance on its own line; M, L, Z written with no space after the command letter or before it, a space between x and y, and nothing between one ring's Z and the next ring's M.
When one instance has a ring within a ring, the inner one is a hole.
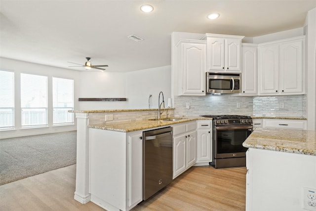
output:
M47 77L21 73L21 126L47 126Z

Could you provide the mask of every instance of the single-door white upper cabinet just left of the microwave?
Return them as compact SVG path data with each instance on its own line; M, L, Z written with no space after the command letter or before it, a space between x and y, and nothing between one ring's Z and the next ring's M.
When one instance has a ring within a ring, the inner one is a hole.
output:
M206 42L180 40L177 44L178 95L205 95Z

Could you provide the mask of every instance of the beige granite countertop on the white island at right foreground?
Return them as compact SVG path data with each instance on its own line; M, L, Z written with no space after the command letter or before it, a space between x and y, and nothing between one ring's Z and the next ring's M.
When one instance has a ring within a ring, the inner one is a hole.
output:
M247 148L316 156L316 131L256 128L242 145Z

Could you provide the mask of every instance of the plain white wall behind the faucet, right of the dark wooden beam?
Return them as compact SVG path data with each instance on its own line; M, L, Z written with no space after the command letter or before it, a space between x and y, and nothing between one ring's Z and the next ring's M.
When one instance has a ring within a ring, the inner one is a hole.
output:
M126 77L126 97L128 109L158 108L158 95L163 92L165 107L171 98L171 66L128 72ZM160 95L160 102L162 95Z

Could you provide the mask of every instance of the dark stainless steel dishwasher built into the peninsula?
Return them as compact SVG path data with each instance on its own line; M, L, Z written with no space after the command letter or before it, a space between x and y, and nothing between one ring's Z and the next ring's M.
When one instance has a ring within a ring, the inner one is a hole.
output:
M143 132L143 200L172 181L172 127Z

